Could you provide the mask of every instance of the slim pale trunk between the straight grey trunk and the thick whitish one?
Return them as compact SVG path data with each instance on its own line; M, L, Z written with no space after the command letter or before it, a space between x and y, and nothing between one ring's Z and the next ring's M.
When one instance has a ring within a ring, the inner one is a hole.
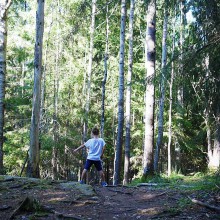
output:
M128 54L128 76L127 76L127 92L126 92L126 135L125 135L125 161L124 161L124 181L123 184L129 183L129 168L130 168L130 131L131 131L131 79L133 70L133 26L134 26L134 9L135 0L130 3L129 17L129 54Z

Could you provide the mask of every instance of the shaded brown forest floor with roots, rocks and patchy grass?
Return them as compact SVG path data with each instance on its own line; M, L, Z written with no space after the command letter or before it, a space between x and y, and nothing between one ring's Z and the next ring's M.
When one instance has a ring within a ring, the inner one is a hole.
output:
M220 219L219 188L177 185L101 187L0 176L0 219Z

